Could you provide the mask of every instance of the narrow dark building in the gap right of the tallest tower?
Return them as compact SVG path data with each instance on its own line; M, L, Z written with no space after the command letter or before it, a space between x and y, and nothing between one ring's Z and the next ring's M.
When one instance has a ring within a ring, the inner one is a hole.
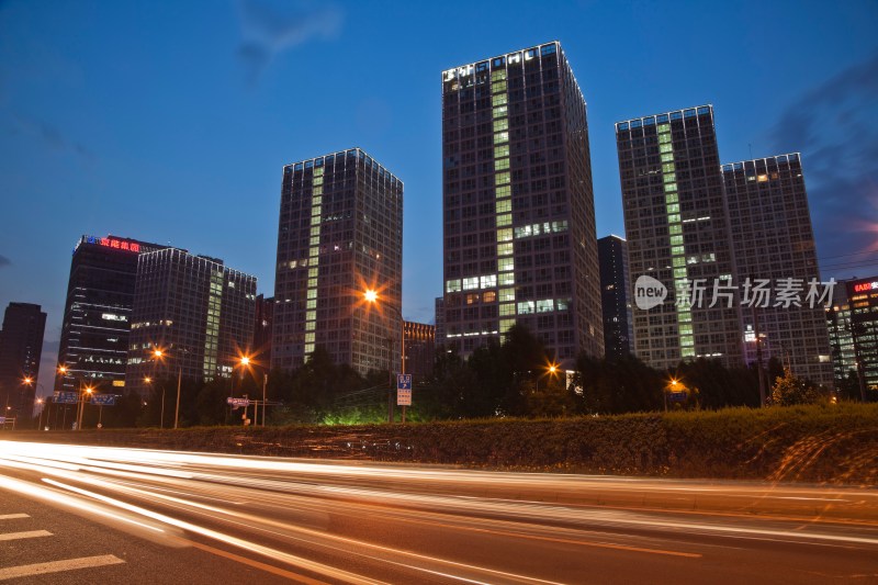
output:
M619 236L603 237L597 240L597 254L600 260L604 355L608 360L618 360L632 352L634 339L628 243Z

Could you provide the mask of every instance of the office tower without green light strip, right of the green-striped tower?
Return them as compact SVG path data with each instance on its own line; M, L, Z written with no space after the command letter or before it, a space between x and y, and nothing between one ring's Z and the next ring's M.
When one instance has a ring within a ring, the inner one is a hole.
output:
M777 300L742 306L746 361L756 361L758 329L763 363L777 358L795 375L832 387L825 305L806 299L809 283L820 282L820 269L799 154L723 165L722 178L741 283L767 280L777 290L792 279L802 290L800 306L776 306Z

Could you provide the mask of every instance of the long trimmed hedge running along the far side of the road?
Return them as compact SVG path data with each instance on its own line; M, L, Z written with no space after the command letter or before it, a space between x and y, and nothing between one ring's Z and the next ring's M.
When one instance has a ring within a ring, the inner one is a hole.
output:
M876 485L878 404L407 425L20 431L20 440L515 470Z

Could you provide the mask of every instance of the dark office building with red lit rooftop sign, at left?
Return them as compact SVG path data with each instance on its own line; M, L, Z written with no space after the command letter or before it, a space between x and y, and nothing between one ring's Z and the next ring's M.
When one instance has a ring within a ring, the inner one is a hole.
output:
M55 390L80 382L101 392L125 384L131 311L142 252L164 248L137 239L82 236L74 248L64 305Z

